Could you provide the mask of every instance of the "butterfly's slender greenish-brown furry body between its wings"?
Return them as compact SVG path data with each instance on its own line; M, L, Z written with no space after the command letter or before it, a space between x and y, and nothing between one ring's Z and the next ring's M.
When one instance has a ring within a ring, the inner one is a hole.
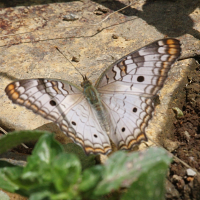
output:
M94 108L96 117L98 118L102 129L107 133L110 133L109 115L107 114L108 112L101 102L101 98L97 89L87 78L84 79L84 81L81 83L81 86L83 87L84 96L89 104Z

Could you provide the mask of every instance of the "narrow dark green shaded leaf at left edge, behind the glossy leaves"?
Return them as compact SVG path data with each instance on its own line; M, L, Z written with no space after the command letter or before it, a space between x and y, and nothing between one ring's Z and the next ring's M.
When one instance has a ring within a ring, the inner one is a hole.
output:
M0 138L0 154L9 149L28 141L37 140L46 131L15 131Z

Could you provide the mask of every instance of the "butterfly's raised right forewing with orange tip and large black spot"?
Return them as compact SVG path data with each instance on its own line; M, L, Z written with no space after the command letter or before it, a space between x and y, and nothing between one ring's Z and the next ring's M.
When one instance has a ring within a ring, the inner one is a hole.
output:
M152 97L163 86L180 53L180 42L176 39L155 41L113 63L102 73L96 87L100 93L126 92Z

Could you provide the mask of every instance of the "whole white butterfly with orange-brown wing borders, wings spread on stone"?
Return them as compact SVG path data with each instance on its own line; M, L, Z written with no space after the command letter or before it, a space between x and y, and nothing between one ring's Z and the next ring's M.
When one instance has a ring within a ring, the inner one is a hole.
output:
M13 103L56 123L86 154L108 154L110 139L129 150L147 141L153 98L180 54L179 40L162 39L111 64L95 85L83 75L81 87L39 78L10 83L5 92Z

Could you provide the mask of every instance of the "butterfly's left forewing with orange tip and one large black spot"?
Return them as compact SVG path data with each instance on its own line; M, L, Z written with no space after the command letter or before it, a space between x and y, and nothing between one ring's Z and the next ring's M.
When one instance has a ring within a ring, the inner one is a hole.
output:
M79 88L51 79L16 81L10 83L5 92L13 103L52 121L58 121L63 110L70 109L83 98Z

